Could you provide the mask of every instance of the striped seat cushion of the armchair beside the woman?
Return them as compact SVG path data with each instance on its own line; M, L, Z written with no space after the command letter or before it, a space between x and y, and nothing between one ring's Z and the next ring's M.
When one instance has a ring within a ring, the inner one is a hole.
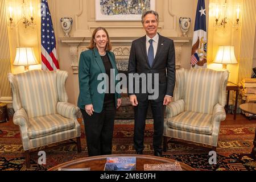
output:
M62 117L60 114L51 114L44 117L29 119L28 137L37 138L57 131L73 129L75 122L73 119Z

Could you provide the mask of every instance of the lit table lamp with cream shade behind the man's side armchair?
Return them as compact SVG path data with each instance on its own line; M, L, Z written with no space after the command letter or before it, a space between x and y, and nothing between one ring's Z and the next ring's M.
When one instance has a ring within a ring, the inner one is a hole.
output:
M218 46L218 52L213 63L222 64L223 69L226 69L227 64L237 64L234 46Z

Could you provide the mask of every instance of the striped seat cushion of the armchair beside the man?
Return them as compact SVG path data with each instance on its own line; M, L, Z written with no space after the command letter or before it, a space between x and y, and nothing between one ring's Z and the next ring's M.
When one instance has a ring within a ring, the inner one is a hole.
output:
M212 115L184 111L173 118L167 119L167 126L172 129L190 131L194 133L212 134Z

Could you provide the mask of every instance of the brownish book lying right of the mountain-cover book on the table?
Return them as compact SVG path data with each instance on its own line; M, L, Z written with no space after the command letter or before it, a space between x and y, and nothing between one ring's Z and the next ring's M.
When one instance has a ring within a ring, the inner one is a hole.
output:
M182 171L179 162L162 164L144 164L144 171Z

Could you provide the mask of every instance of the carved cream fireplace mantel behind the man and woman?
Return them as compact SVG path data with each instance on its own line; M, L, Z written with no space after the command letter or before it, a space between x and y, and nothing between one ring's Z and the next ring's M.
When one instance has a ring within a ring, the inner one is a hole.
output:
M59 38L61 43L68 44L69 46L69 54L71 56L71 67L73 68L73 74L78 73L79 66L79 56L82 51L86 50L86 47L89 46L90 38L80 38L80 37L72 37L72 38ZM113 49L112 51L115 54L115 59L117 61L117 66L119 70L127 70L130 47L133 40L138 39L138 37L112 37L111 42ZM191 37L174 37L170 38L174 40L175 44L175 55L176 55L176 69L181 67L181 52L182 46L185 43L189 43L191 41Z

